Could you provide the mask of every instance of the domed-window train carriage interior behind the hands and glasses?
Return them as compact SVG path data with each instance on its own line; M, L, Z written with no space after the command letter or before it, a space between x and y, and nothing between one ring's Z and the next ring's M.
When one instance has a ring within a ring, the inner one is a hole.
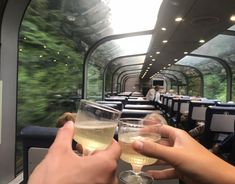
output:
M187 132L203 122L195 138L232 137L219 156L235 165L233 0L1 0L0 28L0 183L27 182L81 99Z

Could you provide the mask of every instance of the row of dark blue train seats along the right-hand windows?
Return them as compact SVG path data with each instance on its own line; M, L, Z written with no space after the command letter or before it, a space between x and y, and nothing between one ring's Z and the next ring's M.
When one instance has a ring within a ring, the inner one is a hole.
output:
M197 122L205 123L205 130L198 141L208 149L232 135L227 161L235 165L235 104L167 95L163 95L161 100L161 110L172 126L190 131Z

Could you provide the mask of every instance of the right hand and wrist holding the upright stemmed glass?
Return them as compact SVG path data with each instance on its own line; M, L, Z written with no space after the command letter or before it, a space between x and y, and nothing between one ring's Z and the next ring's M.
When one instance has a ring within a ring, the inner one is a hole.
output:
M187 184L235 184L235 167L213 155L185 131L167 125L158 131L164 137L160 143L133 143L137 152L158 158L173 167L148 171L155 179L180 178Z

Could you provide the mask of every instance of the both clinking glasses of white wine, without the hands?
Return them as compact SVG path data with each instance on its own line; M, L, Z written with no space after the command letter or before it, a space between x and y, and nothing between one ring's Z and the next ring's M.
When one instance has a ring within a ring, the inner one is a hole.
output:
M131 164L133 170L123 171L119 179L125 183L152 184L153 178L141 169L151 165L156 158L146 157L132 149L135 140L158 142L161 135L156 129L159 122L137 118L120 118L121 112L111 107L81 100L75 121L74 140L83 147L83 154L92 154L95 150L105 149L118 131L118 142L122 149L121 159Z

